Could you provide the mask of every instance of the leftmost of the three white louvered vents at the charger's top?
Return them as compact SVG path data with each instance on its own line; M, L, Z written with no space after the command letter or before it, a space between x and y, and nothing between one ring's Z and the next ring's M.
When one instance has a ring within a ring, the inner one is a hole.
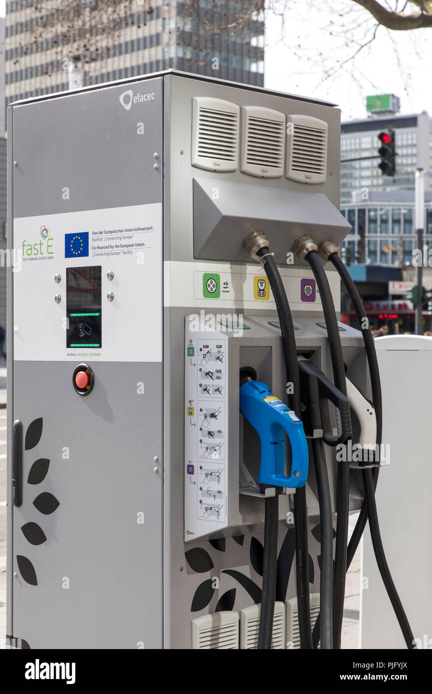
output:
M236 171L239 163L240 108L222 99L192 99L192 166Z

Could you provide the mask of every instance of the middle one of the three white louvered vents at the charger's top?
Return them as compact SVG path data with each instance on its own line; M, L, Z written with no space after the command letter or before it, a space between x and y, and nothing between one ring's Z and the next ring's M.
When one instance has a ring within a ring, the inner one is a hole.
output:
M285 115L261 106L241 109L243 174L261 178L284 175Z

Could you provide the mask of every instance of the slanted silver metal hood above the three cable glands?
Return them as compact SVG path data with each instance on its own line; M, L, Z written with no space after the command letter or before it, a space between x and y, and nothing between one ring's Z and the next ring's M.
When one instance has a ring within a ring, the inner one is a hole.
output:
M278 187L257 189L219 178L193 179L193 251L198 258L243 260L243 239L266 234L275 261L286 264L295 239L304 234L317 244L329 237L339 245L350 225L323 193ZM305 262L306 264L306 262Z

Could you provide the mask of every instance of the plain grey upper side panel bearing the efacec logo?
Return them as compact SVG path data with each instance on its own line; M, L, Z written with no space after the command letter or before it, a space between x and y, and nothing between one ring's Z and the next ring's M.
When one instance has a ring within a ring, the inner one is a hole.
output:
M161 139L162 78L66 93L13 114L15 217L160 202L151 143Z

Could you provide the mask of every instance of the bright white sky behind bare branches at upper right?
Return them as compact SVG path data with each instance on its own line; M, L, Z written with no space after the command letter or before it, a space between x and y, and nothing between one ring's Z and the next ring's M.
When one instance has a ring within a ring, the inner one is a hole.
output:
M395 94L401 113L426 110L432 115L432 28L390 33L379 27L354 65L348 61L341 66L372 37L375 24L368 12L352 0L291 0L289 4L283 30L280 17L271 12L266 16L266 87L336 103L343 121L367 115L369 94ZM356 24L360 26L350 28ZM329 66L334 76L325 80Z

